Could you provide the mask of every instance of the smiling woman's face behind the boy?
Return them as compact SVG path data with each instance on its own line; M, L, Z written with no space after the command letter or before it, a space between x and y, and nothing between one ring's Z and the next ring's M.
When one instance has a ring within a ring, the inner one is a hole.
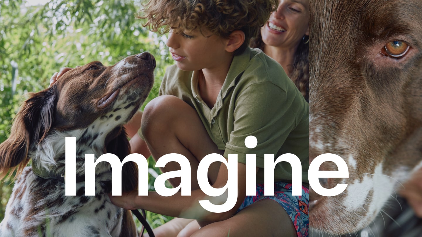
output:
M303 35L309 35L308 22L308 0L280 0L277 10L261 28L262 40L266 45L294 48Z

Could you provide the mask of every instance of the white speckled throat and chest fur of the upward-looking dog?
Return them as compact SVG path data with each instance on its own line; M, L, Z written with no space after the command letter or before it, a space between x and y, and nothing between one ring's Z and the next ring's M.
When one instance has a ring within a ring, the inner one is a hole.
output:
M41 144L33 145L29 156L40 166L54 167L57 173L65 173L64 137L78 137L76 175L83 176L85 154L95 154L97 158L106 153L107 136L121 123L119 120L127 114L127 109L133 107L115 109L84 129L53 132ZM85 182L76 183L76 196L65 196L65 183L40 178L32 172L32 167L26 167L14 184L6 207L5 220L8 221L0 226L0 236L38 237L40 233L54 237L69 236L69 233L72 236L119 236L123 209L113 205L108 198L110 171L107 162L97 164L95 196L85 196Z

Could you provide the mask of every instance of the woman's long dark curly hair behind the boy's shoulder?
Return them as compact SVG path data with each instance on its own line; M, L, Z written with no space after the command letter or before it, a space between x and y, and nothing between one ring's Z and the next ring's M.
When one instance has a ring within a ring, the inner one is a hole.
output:
M260 48L264 51L264 42L262 41L261 33L259 32L256 38L252 38L250 43L251 48ZM295 52L293 59L292 73L289 75L290 79L298 87L299 91L309 101L309 44L300 40L298 49Z

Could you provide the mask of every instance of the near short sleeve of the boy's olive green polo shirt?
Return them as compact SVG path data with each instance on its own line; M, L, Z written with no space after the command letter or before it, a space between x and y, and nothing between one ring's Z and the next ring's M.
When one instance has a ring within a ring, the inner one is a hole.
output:
M271 82L255 83L240 92L233 112L233 132L224 156L238 154L238 161L246 163L246 154L256 154L257 167L264 167L264 154L277 154L296 127L292 101L292 98L287 99L283 89ZM245 145L249 135L257 138L255 148Z

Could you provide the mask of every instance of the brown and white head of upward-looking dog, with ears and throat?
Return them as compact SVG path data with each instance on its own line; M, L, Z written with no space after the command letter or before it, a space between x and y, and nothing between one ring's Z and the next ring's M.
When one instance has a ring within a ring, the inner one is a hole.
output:
M46 168L57 167L64 159L65 137L76 137L77 156L113 153L124 159L130 151L122 126L148 96L155 66L149 53L108 67L91 62L32 94L0 145L1 175L13 167L22 170L30 158Z

